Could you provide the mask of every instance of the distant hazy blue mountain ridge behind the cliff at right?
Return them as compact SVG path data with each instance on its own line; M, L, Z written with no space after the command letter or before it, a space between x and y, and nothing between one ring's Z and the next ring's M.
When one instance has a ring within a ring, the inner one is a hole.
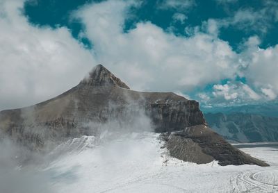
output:
M206 121L214 131L236 142L277 142L278 118L243 112L206 113Z

